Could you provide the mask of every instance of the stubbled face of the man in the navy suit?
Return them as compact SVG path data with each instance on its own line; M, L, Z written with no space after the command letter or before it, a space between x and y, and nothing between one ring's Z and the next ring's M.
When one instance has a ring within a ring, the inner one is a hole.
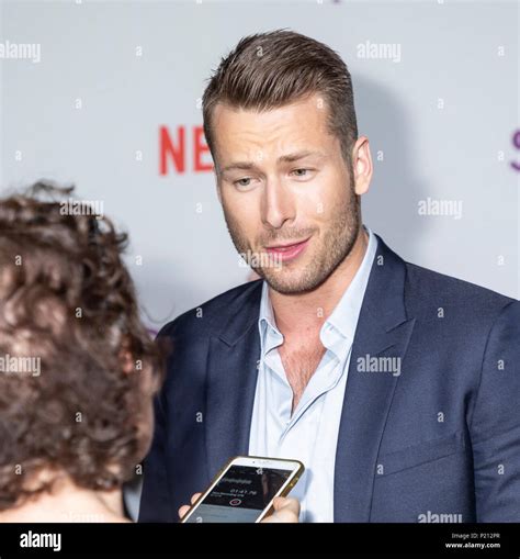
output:
M317 96L213 113L218 195L235 247L280 293L321 284L360 228L351 169Z

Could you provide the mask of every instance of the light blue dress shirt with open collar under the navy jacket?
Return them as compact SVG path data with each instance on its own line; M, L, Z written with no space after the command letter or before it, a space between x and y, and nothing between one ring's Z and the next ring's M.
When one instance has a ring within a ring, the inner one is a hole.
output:
M365 227L366 228L366 227ZM293 391L278 347L278 329L264 281L258 327L261 355L249 435L249 454L301 460L305 473L291 495L299 500L301 522L334 522L334 476L339 423L358 318L377 239L366 228L369 245L361 267L319 332L326 351L291 416Z

